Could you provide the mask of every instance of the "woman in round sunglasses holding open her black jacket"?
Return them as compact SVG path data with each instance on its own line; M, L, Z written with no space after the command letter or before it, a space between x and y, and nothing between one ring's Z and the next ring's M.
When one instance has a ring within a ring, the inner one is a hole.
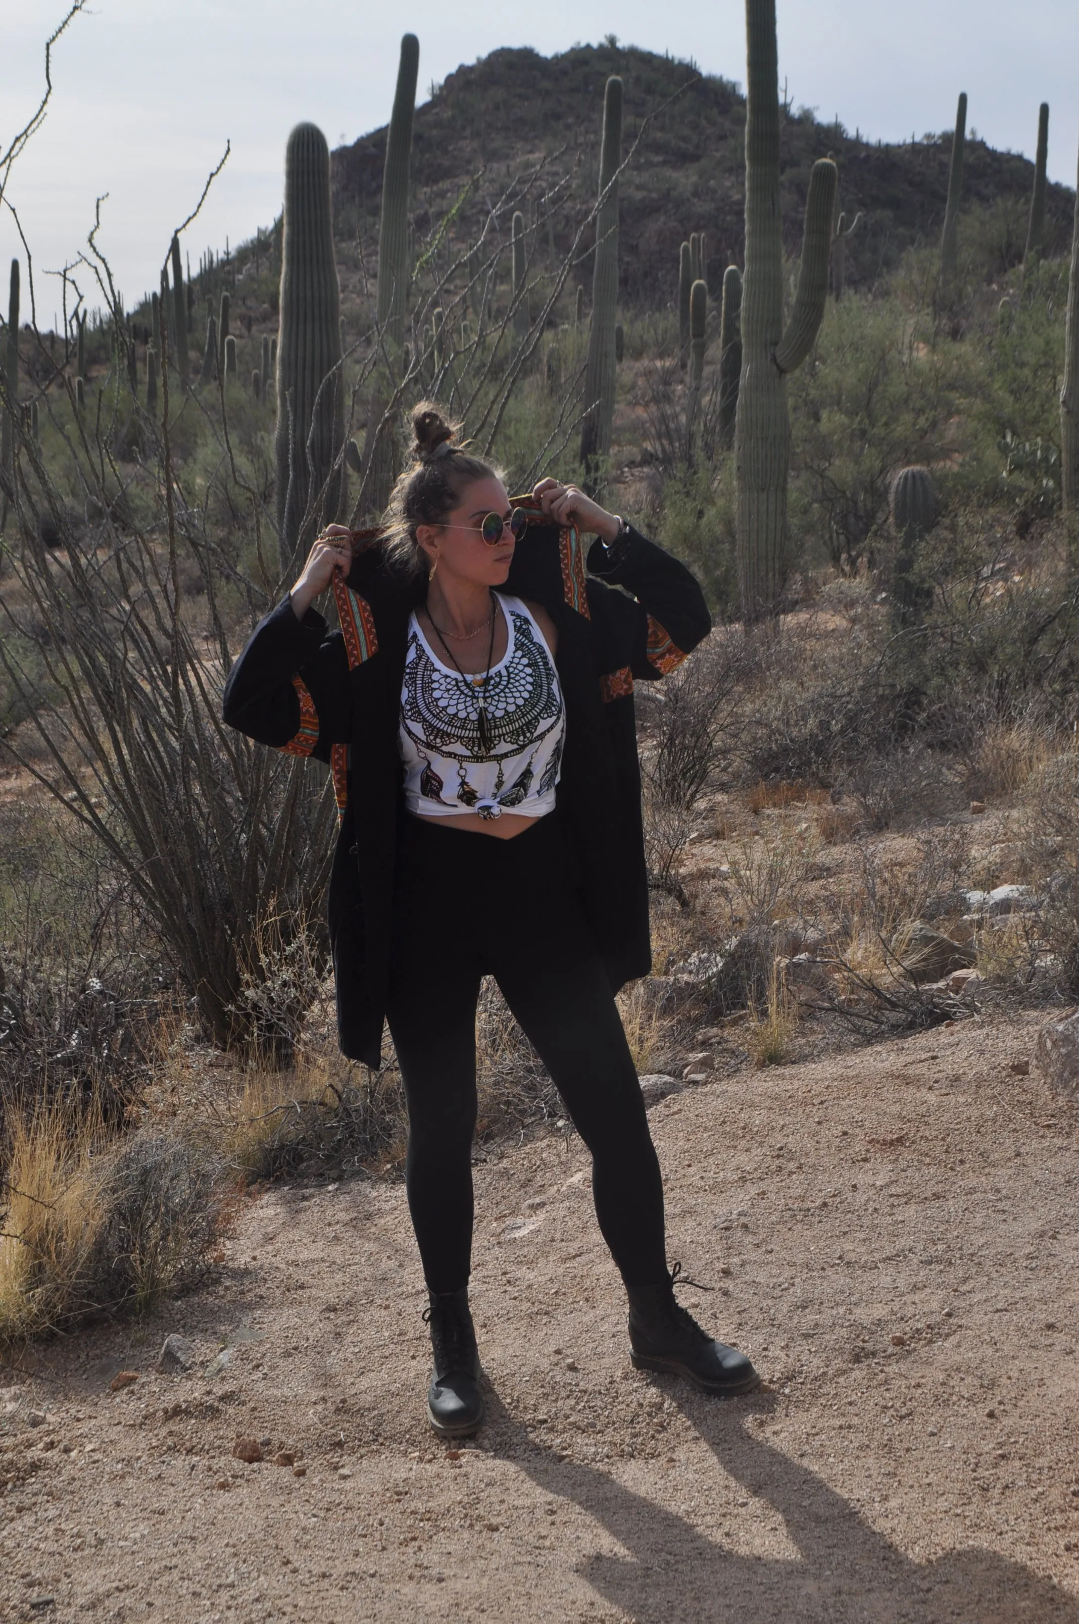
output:
M356 546L330 525L315 541L232 667L224 718L330 762L338 784L338 1033L377 1067L385 1017L401 1069L431 1424L460 1437L484 1413L468 1311L484 974L592 1151L632 1363L749 1392L749 1359L674 1299L660 1166L614 1004L650 970L632 685L707 635L704 598L575 486L543 479L510 503L434 406L413 427L387 529ZM580 529L598 538L587 560ZM312 609L330 586L340 632Z

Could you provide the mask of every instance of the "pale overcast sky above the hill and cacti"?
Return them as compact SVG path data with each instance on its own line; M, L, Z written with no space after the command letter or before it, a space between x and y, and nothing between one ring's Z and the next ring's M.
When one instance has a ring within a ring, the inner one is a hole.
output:
M192 263L206 245L250 237L281 206L284 140L314 119L332 146L385 123L400 36L419 36L421 99L462 62L499 45L551 55L618 34L626 44L692 57L744 81L741 0L91 0L54 49L54 97L8 190L31 252L37 315L52 325L57 284L102 205L101 244L130 304L156 286L174 226L232 143L231 158L188 232ZM42 47L63 0L3 0L0 151L42 88ZM956 97L968 127L1030 154L1038 102L1050 102L1050 175L1076 182L1079 149L1077 0L778 0L780 83L795 106L835 114L884 140L946 130ZM600 120L596 102L596 122ZM0 265L23 248L6 209ZM0 286L6 300L6 270ZM86 287L89 294L89 287ZM93 302L93 300L91 300ZM28 304L28 300L26 300ZM26 305L24 305L26 309ZM6 315L6 305L5 305ZM26 309L26 315L29 310Z

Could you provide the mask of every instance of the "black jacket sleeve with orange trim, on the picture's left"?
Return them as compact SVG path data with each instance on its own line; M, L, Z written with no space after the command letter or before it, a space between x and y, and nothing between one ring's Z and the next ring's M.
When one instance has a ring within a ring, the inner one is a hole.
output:
M289 598L258 622L224 685L229 728L288 755L330 760L351 739L348 656L340 632L309 609L296 617Z

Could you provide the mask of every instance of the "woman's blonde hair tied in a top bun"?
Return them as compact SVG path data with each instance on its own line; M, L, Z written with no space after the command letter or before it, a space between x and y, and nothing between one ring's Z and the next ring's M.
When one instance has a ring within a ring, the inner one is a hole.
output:
M444 525L474 479L504 477L500 468L453 443L460 427L447 422L434 401L421 401L413 411L411 464L393 486L382 526L387 559L403 575L427 573L416 541L419 525Z

